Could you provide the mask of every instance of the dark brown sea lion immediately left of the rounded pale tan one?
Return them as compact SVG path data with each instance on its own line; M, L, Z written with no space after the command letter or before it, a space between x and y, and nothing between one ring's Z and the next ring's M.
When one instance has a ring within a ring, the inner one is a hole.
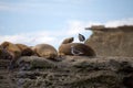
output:
M31 56L33 51L24 44L16 44L21 50L21 56Z

